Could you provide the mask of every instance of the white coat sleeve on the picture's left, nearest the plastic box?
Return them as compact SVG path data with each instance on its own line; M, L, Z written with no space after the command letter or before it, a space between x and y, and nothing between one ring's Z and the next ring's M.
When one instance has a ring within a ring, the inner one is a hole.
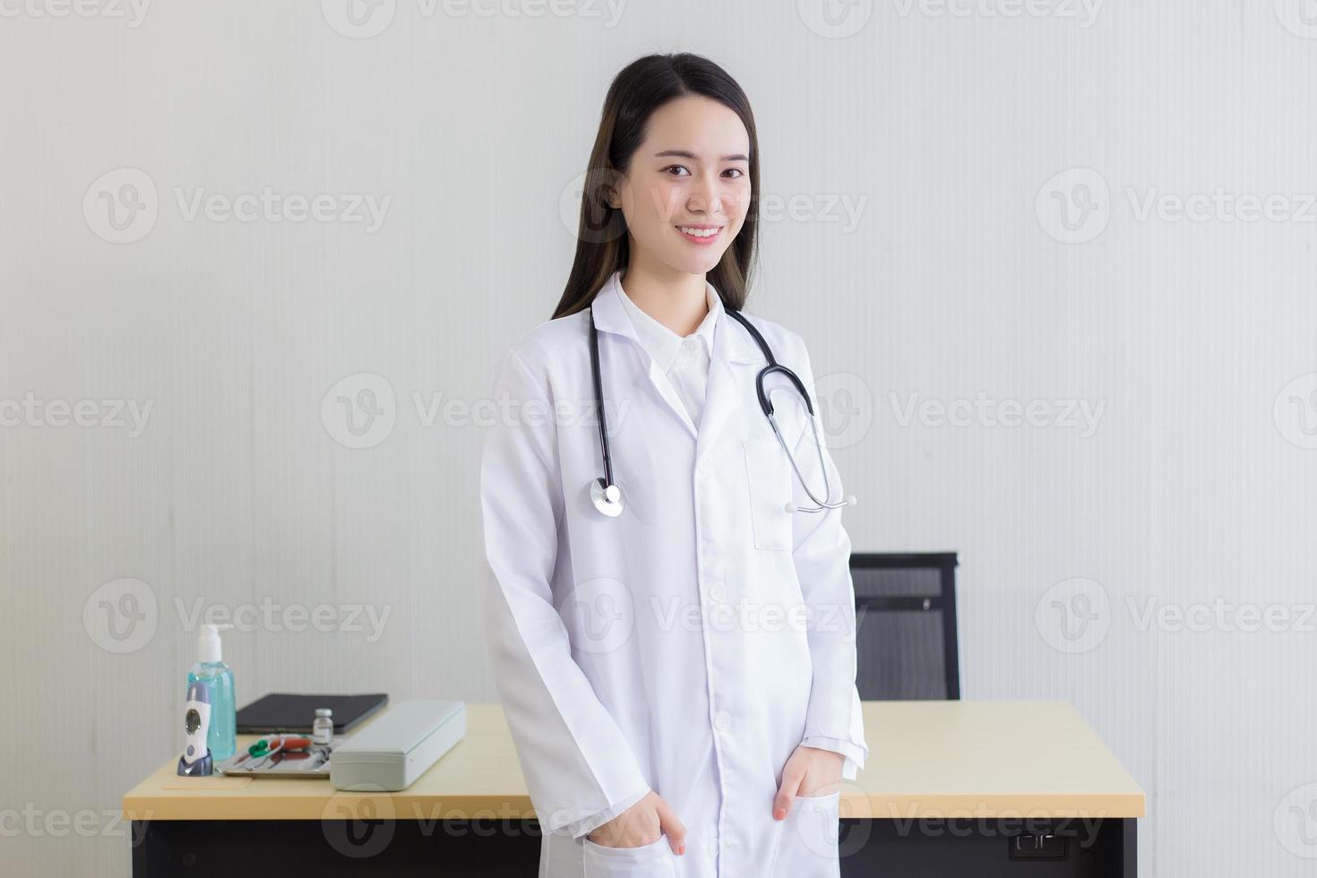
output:
M481 458L490 662L541 827L579 837L644 798L649 785L573 659L553 604L564 516L557 430L544 382L515 349L494 399L500 413Z

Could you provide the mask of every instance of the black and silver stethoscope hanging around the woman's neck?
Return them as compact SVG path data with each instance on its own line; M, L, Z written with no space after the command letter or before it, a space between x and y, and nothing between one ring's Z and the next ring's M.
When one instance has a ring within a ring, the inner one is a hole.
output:
M773 434L777 437L777 444L782 446L782 452L786 454L786 459L792 463L792 470L795 471L795 478L799 479L801 487L805 488L805 494L809 495L814 505L795 505L788 502L785 509L788 512L826 512L827 509L839 509L844 505L855 505L853 496L846 496L840 500L832 500L832 486L827 480L827 467L823 465L823 442L819 440L819 425L818 419L814 417L814 403L810 401L810 395L805 391L805 384L801 379L786 366L777 362L773 357L772 348L764 341L764 337L759 334L759 329L751 325L749 320L741 316L740 312L726 309L736 323L745 326L745 330L755 337L755 342L759 349L764 351L764 359L768 361L768 366L759 371L755 376L755 392L759 395L759 407L763 409L764 416L768 417L769 425L773 428ZM764 379L778 373L785 375L788 380L795 387L795 391L805 400L805 409L810 415L810 426L814 429L814 450L819 457L819 473L823 474L823 488L824 498L818 499L810 490L810 486L805 482L805 475L801 473L801 467L795 465L795 455L792 454L792 449L786 446L786 440L782 438L782 432L777 428L777 419L773 416L773 401L769 395L764 391ZM603 475L590 482L590 500L603 515L610 519L615 519L622 515L624 503L622 499L622 488L618 483L612 480L612 452L608 448L608 425L605 421L603 415L603 380L599 376L599 330L594 325L594 309L590 309L590 375L594 379L594 407L599 416L599 452L603 457Z

